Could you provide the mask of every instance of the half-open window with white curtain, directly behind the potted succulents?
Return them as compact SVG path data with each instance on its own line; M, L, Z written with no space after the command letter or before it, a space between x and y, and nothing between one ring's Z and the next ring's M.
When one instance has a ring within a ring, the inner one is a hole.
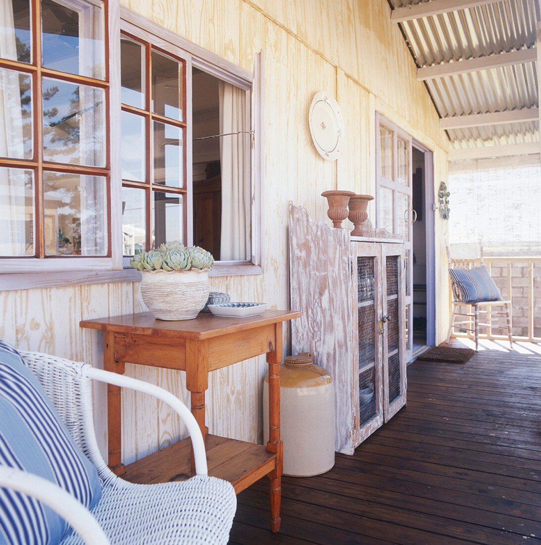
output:
M150 33L123 31L124 255L182 240L217 261L250 262L250 84L199 68L188 52Z

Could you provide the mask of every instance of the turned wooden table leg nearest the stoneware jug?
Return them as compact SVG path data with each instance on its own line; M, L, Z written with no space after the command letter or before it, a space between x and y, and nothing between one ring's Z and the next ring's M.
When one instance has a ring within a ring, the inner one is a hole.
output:
M270 530L280 531L280 503L282 498L282 473L284 470L284 445L280 439L280 364L282 362L282 323L275 324L275 344L267 353L269 364L269 440L267 450L276 454L276 467L270 479Z

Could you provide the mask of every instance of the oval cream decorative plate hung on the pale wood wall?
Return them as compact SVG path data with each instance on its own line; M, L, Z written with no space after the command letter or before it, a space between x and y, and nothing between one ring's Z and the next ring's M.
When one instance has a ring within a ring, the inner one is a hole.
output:
M344 136L344 122L340 106L333 96L324 91L318 91L313 96L308 124L319 155L327 161L338 159L340 142Z

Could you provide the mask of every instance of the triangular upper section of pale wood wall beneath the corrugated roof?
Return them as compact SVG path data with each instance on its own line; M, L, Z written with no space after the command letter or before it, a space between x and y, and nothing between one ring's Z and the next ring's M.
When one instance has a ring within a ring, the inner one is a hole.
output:
M447 149L387 0L246 0Z

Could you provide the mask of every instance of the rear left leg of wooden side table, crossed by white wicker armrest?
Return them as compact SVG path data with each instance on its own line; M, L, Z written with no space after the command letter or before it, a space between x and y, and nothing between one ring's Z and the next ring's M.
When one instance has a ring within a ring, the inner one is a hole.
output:
M124 362L115 361L114 333L103 332L103 368L105 371L124 374ZM107 450L108 465L116 475L126 473L122 464L122 408L120 386L107 385Z

